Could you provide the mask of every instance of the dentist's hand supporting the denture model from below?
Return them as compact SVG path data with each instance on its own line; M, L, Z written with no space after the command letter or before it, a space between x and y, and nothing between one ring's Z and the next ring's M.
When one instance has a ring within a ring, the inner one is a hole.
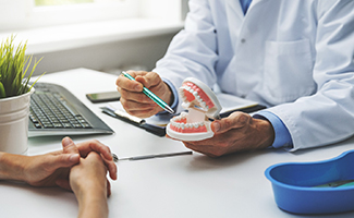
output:
M199 142L183 142L195 152L209 157L231 153L263 149L272 145L274 131L267 120L252 118L244 112L233 112L228 118L211 123L215 135Z

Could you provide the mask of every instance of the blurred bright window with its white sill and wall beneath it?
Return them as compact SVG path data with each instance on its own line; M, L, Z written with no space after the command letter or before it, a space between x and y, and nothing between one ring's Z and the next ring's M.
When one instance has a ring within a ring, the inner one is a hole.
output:
M0 40L42 60L36 75L75 68L146 70L183 28L187 0L0 0Z

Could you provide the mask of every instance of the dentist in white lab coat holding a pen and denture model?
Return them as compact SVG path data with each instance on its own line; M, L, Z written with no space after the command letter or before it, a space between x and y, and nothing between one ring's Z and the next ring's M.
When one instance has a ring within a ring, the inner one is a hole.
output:
M181 111L176 88L196 77L268 108L212 122L215 136L185 146L211 157L272 146L297 150L354 133L353 0L190 0L185 27L152 72L117 80L133 116Z

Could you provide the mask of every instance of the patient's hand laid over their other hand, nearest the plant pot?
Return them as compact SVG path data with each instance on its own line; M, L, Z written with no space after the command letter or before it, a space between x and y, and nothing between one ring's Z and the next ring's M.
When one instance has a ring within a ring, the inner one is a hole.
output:
M117 166L113 162L109 147L96 140L78 143L77 145L70 137L62 140L62 150L38 155L16 156L12 158L13 175L19 172L19 179L34 186L56 186L69 189L70 168L80 162L80 157L86 157L90 152L100 154L100 157L109 169L111 179L117 179ZM7 154L10 155L10 154Z

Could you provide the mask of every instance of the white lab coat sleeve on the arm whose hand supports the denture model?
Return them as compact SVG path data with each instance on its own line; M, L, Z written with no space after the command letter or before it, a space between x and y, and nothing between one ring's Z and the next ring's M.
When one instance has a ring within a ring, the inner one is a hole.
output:
M317 93L269 109L290 131L292 150L337 143L354 133L353 9L354 1L318 1Z

